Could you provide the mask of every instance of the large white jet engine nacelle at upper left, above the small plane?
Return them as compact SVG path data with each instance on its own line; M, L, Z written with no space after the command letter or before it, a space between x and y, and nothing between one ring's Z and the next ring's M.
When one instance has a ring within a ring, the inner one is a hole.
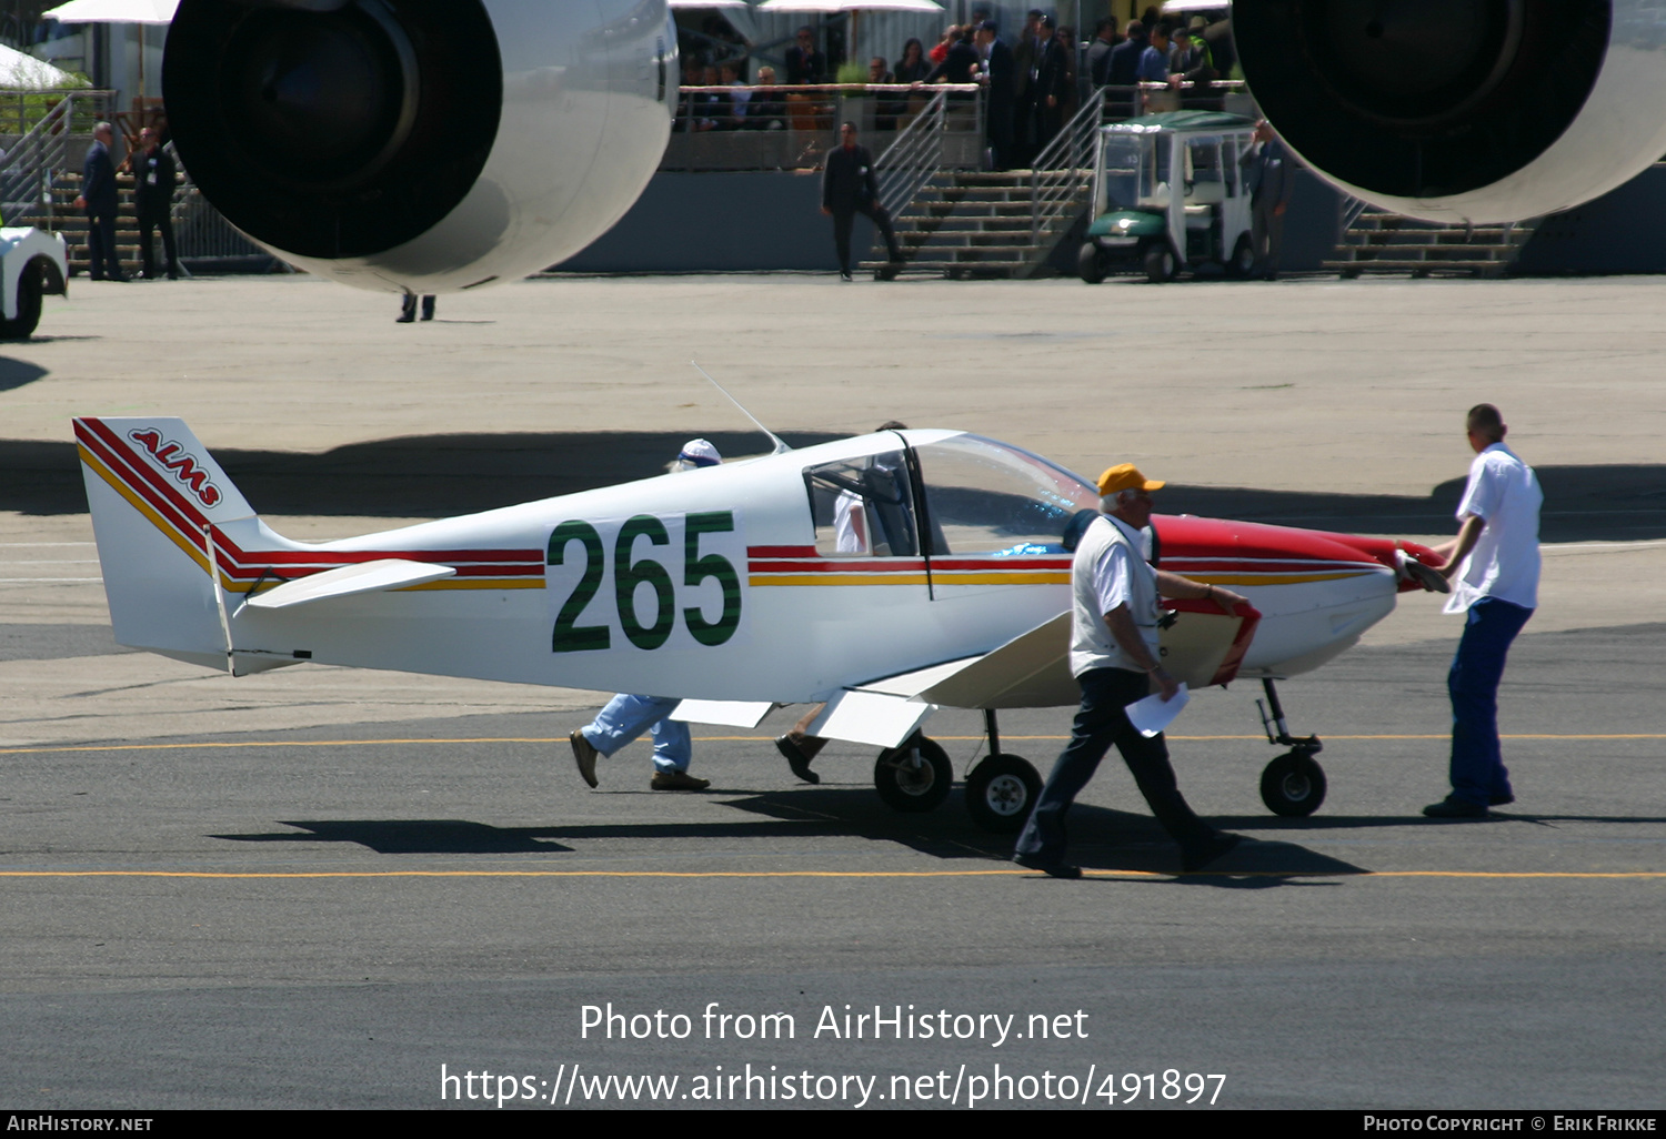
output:
M665 0L182 0L168 123L203 195L312 273L515 280L631 206L671 130Z

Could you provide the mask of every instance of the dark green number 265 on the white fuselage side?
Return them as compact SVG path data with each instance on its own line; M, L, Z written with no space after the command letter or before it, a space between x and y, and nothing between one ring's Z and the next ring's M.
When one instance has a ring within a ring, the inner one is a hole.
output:
M706 578L715 578L723 589L723 609L715 621L698 606L683 609L683 623L700 644L716 646L735 636L740 628L741 589L735 565L720 553L700 553L701 535L733 533L735 515L720 510L683 518L683 588L693 589ZM636 558L636 548L646 540L646 553L655 546L671 545L665 523L653 515L636 515L620 526L613 543L613 603L618 606L620 628L625 638L640 649L656 649L671 636L676 624L676 588L666 568L651 556ZM565 565L566 550L578 543L585 568L578 584L566 596L555 618L550 649L555 653L586 653L611 648L611 629L606 624L580 624L578 618L601 589L606 573L601 535L586 521L565 521L550 535L548 563ZM636 608L638 586L650 586L653 604L648 614ZM648 619L643 619L643 618Z

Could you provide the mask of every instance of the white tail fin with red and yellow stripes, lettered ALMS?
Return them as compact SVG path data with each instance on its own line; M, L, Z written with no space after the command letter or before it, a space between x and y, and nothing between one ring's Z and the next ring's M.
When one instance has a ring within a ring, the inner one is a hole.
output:
M248 501L183 420L78 418L75 441L115 639L228 668L222 528L255 531Z

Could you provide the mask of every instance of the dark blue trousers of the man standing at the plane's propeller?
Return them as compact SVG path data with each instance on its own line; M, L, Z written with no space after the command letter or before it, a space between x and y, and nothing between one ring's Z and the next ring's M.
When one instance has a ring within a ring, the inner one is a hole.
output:
M1531 616L1533 609L1519 604L1481 598L1469 606L1446 673L1446 693L1453 701L1453 796L1466 803L1486 806L1514 794L1498 743L1498 683L1504 676L1509 643Z

